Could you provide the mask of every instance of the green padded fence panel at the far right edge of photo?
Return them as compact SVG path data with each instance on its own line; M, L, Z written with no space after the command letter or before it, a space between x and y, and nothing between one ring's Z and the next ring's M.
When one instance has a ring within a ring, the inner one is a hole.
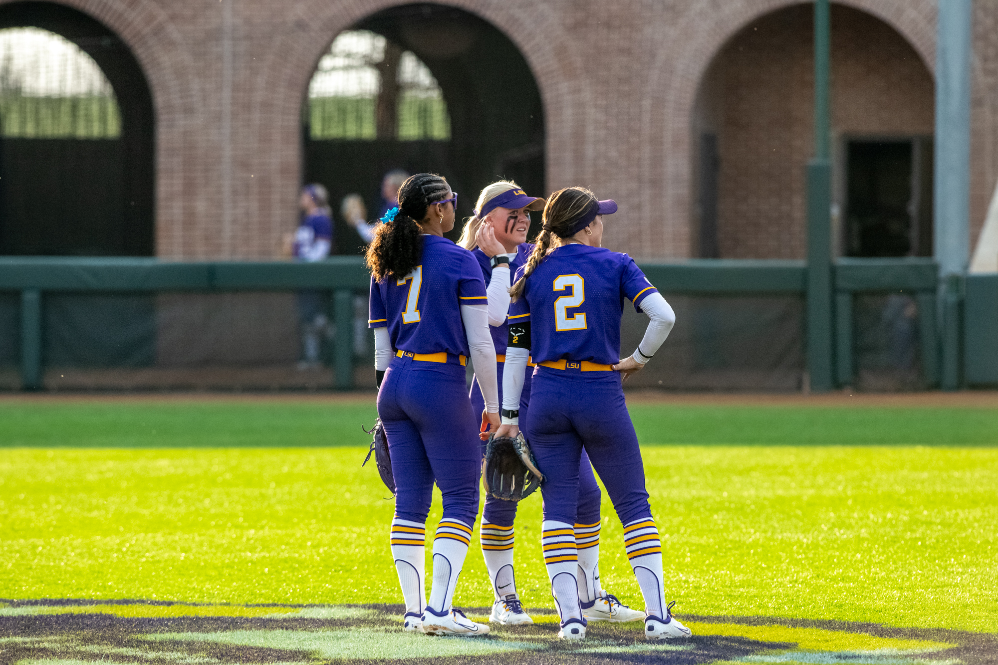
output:
M964 301L964 377L998 383L998 275L968 275Z

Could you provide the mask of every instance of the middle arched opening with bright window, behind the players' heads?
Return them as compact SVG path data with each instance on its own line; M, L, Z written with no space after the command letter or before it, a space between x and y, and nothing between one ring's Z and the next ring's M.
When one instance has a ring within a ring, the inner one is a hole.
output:
M374 219L392 170L446 176L462 218L497 178L544 191L544 115L530 67L502 32L453 7L389 8L337 36L302 122L303 178L329 191L338 254L363 247L340 201L359 194Z

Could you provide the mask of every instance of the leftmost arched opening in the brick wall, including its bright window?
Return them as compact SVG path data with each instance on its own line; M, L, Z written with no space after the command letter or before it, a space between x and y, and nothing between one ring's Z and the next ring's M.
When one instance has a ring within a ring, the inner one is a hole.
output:
M54 3L0 6L0 255L152 256L154 150L117 35Z

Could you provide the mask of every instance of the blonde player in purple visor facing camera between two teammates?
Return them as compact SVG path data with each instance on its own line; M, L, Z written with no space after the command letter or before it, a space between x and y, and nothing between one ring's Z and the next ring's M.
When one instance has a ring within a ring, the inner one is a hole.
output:
M492 183L478 197L475 216L464 227L458 245L471 250L482 269L488 285L489 326L496 348L496 373L502 400L503 365L506 361L506 340L509 311L510 276L526 264L534 246L527 244L530 229L528 211L540 210L544 199L528 197L514 182ZM532 365L532 363L529 363ZM475 409L484 406L477 375L471 382L471 403ZM530 374L520 396L519 418L527 421L530 406ZM483 448L484 452L484 448ZM583 615L589 621L639 621L639 612L623 605L616 596L600 585L600 486L586 451L579 463L579 498L573 520L576 545L579 550L578 584ZM490 621L511 625L533 623L520 605L513 565L514 528L517 502L487 496L482 514L481 545L489 580L495 594Z

